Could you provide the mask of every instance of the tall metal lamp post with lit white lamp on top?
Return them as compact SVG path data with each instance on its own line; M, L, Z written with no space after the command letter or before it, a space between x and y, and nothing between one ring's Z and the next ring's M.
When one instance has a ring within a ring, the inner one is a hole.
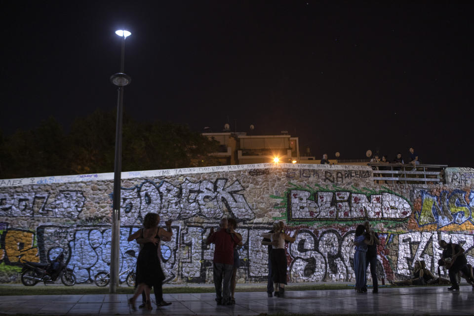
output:
M122 38L122 49L120 55L120 72L110 77L110 81L116 86L118 86L117 127L115 130L114 201L112 204L112 240L110 253L110 293L117 293L118 287L118 245L120 242L120 173L122 171L123 89L131 81L131 78L123 73L125 57L125 39L130 36L131 33L125 30L118 30L115 33Z

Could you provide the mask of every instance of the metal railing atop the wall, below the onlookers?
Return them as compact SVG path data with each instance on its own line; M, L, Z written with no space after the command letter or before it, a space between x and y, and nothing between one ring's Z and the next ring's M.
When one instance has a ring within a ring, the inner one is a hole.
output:
M393 183L439 183L446 182L444 169L447 164L412 164L401 163L375 163L367 165L373 170L374 182L393 181Z

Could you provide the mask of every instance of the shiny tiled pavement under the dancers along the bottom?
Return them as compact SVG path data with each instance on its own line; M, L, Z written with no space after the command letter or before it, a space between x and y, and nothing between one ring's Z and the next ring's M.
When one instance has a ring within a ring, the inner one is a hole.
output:
M290 289L288 286L287 289ZM173 304L146 311L132 311L130 294L30 295L0 297L2 315L474 315L470 285L459 292L446 286L382 287L379 293L349 290L286 291L284 298L266 292L238 292L236 305L220 306L213 293L164 294ZM137 304L138 305L138 304Z

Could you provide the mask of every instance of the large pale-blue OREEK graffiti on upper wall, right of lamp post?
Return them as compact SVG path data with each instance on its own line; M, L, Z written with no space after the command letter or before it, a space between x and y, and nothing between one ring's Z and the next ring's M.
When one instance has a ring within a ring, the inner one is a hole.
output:
M251 220L255 214L243 195L244 190L238 180L228 184L228 179L222 178L214 182L186 179L179 186L164 180L158 184L146 180L135 187L122 188L122 222L139 224L148 212L157 212L172 220L193 216L219 219L224 215Z

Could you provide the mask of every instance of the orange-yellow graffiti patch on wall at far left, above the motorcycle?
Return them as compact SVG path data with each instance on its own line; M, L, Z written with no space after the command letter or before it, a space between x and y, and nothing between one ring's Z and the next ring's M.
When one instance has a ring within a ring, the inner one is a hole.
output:
M5 255L10 262L40 262L35 234L23 231L6 231Z

